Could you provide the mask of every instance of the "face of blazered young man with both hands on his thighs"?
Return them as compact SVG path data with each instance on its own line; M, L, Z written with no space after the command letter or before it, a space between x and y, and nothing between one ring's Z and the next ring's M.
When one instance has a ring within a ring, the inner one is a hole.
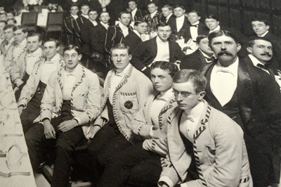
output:
M65 51L63 58L65 60L66 68L68 70L73 70L75 67L77 67L81 57L81 54L79 55L74 49Z

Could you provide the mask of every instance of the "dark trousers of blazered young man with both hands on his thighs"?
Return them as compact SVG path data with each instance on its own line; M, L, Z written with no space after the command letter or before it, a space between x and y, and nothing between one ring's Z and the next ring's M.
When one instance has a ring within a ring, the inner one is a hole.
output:
M44 135L44 126L39 123L34 124L25 134L25 141L34 171L36 171L39 163L44 158L44 153L55 148L55 169L51 186L67 186L73 161L74 146L84 139L84 132L81 127L74 127L66 132L58 131L58 125L61 122L72 118L69 112L62 109L62 114L51 120L56 132L56 139L47 139Z

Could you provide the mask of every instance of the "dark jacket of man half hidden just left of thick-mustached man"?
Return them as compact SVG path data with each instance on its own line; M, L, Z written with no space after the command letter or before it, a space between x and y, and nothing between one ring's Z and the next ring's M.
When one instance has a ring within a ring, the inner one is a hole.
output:
M181 70L192 69L201 72L205 65L207 65L207 60L203 56L202 52L197 49L194 53L183 57L180 67Z

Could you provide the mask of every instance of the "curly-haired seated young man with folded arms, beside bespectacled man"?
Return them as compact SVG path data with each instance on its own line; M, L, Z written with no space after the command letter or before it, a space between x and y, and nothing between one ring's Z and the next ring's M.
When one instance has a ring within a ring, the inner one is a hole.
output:
M173 76L178 71L174 63L157 61L151 65L151 80L155 92L131 122L135 134L146 140L117 153L107 164L98 186L157 186L162 172L161 157L167 154L163 143L166 126L162 124L176 107L171 89Z

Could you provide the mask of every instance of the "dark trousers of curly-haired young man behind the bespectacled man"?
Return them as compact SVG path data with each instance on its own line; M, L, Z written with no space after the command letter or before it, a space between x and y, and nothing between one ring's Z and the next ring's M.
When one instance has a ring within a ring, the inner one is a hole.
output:
M160 156L143 149L143 143L126 148L107 164L99 187L155 187L162 172Z

